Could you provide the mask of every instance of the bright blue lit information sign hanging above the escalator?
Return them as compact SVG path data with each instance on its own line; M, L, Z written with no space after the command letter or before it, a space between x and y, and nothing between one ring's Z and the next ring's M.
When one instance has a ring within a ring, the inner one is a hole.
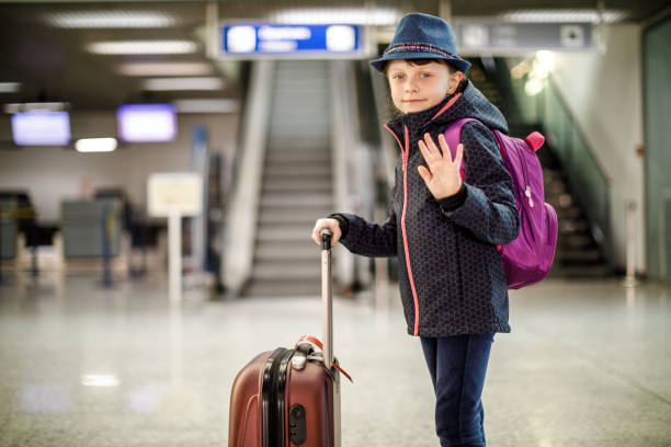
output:
M226 56L329 56L353 55L361 50L356 25L226 24L221 44Z

